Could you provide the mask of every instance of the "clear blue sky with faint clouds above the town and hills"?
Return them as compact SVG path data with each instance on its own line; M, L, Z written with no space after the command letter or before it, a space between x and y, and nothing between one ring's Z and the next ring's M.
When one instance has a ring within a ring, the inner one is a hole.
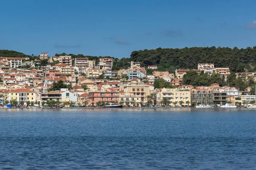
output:
M1 0L0 49L129 57L256 45L255 0Z

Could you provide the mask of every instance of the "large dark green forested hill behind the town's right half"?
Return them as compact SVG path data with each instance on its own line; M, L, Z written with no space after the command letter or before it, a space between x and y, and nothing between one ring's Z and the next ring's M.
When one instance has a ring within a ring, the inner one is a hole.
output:
M131 60L143 65L157 65L158 70L173 72L176 68L197 68L198 63L214 63L215 67L229 67L231 71L256 71L256 46L253 48L192 47L157 48L133 51Z

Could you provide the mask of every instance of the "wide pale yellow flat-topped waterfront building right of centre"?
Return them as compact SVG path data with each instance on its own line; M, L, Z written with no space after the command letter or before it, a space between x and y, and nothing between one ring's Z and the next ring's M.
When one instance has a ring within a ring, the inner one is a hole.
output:
M178 90L176 88L162 88L160 92L160 101L164 98L169 99L170 105L174 106L174 103L177 102L176 105L180 105L180 101L183 101L182 105L187 105L186 102L189 101L189 105L191 105L190 101L190 91L189 90Z

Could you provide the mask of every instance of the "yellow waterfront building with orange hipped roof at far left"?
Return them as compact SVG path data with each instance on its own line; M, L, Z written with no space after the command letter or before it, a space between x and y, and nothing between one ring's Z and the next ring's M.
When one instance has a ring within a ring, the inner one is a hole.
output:
M19 103L24 102L24 105L29 101L33 105L36 101L36 92L23 88L12 90L7 93L7 100L10 101L12 99L16 99Z

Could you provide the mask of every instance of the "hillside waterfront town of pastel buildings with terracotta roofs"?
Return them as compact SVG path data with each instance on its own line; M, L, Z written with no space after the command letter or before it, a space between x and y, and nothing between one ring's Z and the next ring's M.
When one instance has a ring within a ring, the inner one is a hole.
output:
M41 66L48 60L49 65ZM113 70L113 58L102 57L99 62L88 58L53 56L41 53L39 59L29 57L0 57L0 101L15 106L63 105L64 107L101 107L117 103L123 107L188 107L198 104L247 105L255 102L252 87L244 91L218 83L209 86L183 85L188 71L224 79L229 68L217 68L214 63L198 63L198 69L176 69L174 73L156 71L157 65L141 66L130 62L129 68ZM52 63L55 63L54 65ZM153 69L147 74L147 69ZM238 77L253 77L256 73L236 73ZM161 80L161 81L160 81ZM167 83L156 88L154 82Z

